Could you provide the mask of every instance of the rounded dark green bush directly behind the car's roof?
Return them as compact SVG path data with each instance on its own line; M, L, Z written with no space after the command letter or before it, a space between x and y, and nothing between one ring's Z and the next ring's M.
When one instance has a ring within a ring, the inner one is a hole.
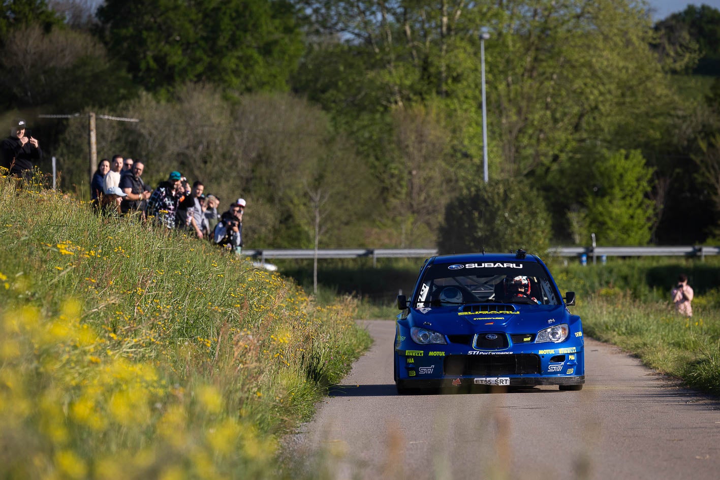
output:
M466 253L523 248L541 254L549 237L549 214L530 184L496 180L470 185L448 202L438 249Z

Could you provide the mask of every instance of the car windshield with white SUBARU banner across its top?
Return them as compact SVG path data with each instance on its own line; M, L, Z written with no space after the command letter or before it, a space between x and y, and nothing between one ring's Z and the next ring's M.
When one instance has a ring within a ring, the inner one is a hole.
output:
M481 302L558 305L559 294L534 262L435 264L423 275L415 308Z

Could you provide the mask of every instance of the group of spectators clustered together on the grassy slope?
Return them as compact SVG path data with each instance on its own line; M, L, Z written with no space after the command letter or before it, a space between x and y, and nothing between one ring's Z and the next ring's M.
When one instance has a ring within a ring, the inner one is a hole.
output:
M91 181L91 203L99 214L135 216L168 230L187 230L240 254L243 247L243 212L246 201L237 199L220 214L220 199L205 194L202 181L192 186L179 171L151 189L143 181L143 160L114 155L100 160Z

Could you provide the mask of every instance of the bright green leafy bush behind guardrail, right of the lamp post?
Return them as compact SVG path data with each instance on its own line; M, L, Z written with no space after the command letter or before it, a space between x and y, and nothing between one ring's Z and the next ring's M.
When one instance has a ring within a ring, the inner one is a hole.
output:
M647 198L652 168L637 150L606 152L593 165L593 184L585 196L587 225L600 245L647 245L654 204ZM589 236L589 235L588 235Z

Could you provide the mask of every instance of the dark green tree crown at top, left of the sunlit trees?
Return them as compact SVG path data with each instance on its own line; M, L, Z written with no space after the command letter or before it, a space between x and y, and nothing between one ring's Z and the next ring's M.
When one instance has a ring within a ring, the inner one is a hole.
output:
M302 53L294 7L284 0L110 0L98 17L109 51L149 91L186 82L283 90Z

